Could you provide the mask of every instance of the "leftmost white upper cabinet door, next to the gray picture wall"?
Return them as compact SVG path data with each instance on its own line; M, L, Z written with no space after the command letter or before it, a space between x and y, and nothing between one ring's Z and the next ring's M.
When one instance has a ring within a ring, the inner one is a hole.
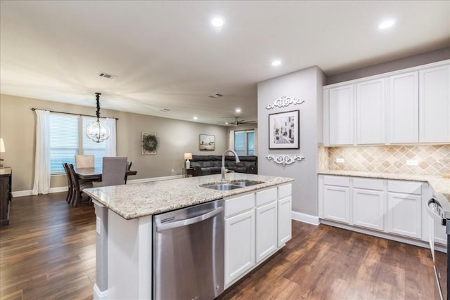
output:
M354 144L354 85L329 90L330 145Z

